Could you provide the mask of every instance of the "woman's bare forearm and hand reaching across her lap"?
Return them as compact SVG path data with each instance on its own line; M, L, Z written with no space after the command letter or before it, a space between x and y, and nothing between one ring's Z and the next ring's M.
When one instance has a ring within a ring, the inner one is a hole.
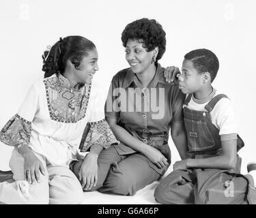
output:
M130 148L134 149L135 151L143 153L143 155L150 159L152 163L156 164L158 168L163 168L168 164L167 159L164 155L162 155L162 153L160 153L160 151L148 144L141 142L137 138L134 138L134 136L129 134L126 129L117 125L117 119L106 117L106 121L109 123L117 140L130 146Z

